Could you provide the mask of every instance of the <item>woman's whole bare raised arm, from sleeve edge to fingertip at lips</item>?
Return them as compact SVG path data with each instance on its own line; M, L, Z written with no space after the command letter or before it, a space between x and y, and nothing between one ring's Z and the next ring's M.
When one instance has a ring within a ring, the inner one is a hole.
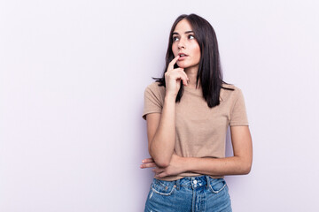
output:
M181 87L181 80L187 86L187 75L181 68L175 68L179 56L168 65L165 73L166 94L161 114L146 115L149 154L159 167L167 167L175 147L175 99Z

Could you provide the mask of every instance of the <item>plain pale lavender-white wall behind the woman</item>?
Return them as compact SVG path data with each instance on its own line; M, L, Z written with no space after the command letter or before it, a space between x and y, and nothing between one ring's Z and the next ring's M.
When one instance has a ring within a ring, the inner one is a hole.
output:
M0 211L144 210L144 88L183 13L217 34L253 135L233 210L319 211L317 1L0 2ZM230 136L227 155L231 155Z

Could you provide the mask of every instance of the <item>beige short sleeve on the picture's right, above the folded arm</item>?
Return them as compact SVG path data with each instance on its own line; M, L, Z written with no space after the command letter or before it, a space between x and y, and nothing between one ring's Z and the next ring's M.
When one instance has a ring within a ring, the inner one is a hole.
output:
M237 100L230 114L230 126L232 125L249 125L245 109L244 95L241 89L237 88Z

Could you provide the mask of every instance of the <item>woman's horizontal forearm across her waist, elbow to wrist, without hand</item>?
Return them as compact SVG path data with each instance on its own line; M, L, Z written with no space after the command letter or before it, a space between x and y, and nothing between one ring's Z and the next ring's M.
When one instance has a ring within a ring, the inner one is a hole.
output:
M239 156L225 158L184 157L184 170L204 175L245 175L251 170L252 161Z

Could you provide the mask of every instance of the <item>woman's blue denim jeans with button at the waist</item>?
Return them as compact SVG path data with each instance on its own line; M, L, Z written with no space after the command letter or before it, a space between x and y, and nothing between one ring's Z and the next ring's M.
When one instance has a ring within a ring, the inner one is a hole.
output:
M153 178L144 212L231 212L223 178L185 177L174 181Z

